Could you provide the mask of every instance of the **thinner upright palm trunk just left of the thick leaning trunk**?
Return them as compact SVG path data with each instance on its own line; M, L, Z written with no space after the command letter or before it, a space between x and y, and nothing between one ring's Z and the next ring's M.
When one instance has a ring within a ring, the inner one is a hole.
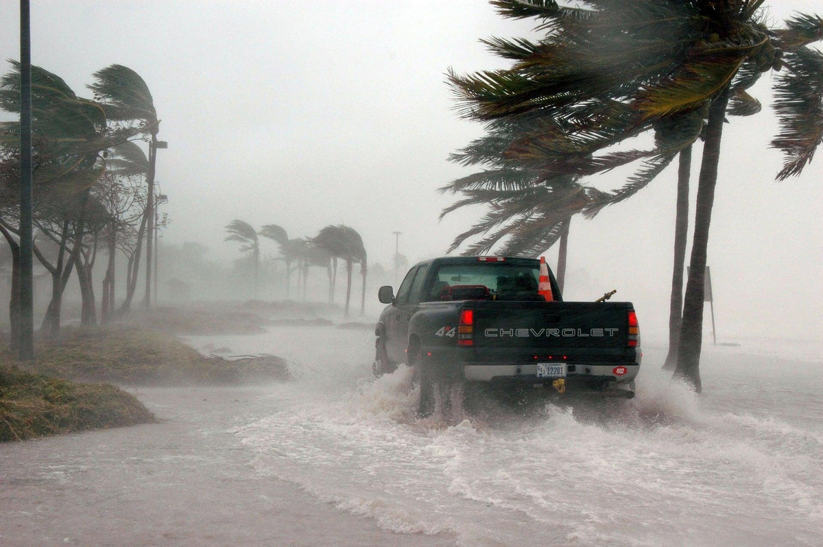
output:
M672 298L669 301L669 351L664 370L677 365L677 345L683 319L683 266L686 263L686 237L689 232L689 178L691 146L680 153L677 169L677 206L674 220L674 266L672 267Z

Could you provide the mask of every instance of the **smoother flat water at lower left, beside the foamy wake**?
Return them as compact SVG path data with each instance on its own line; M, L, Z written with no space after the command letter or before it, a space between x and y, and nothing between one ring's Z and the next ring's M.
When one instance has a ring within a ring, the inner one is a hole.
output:
M0 545L454 545L258 473L236 432L272 410L265 387L138 395L165 423L0 444Z

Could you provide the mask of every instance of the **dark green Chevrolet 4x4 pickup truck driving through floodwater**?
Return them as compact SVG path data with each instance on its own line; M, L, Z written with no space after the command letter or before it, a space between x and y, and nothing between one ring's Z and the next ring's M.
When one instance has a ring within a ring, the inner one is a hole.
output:
M545 262L435 258L412 267L398 294L381 287L379 299L389 305L375 327L374 373L416 367L421 414L445 382L634 396L641 356L634 307L564 302Z

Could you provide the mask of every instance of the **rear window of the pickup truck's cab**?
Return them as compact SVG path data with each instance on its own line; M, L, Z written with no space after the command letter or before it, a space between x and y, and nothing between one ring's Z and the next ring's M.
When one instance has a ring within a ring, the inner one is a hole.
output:
M425 300L542 300L537 294L537 267L494 264L441 266Z

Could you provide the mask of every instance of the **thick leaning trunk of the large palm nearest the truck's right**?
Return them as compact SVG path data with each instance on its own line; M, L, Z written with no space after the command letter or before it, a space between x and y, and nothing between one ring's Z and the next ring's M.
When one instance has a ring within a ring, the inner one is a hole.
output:
M714 100L709 108L709 123L700 162L700 179L695 205L695 233L691 243L689 280L683 302L683 322L680 329L680 345L677 350L675 377L689 382L695 392L702 390L700 383L700 346L703 343L703 298L706 252L709 247L709 224L714 206L714 187L718 180L720 141L723 137L723 121L728 104L728 88Z

